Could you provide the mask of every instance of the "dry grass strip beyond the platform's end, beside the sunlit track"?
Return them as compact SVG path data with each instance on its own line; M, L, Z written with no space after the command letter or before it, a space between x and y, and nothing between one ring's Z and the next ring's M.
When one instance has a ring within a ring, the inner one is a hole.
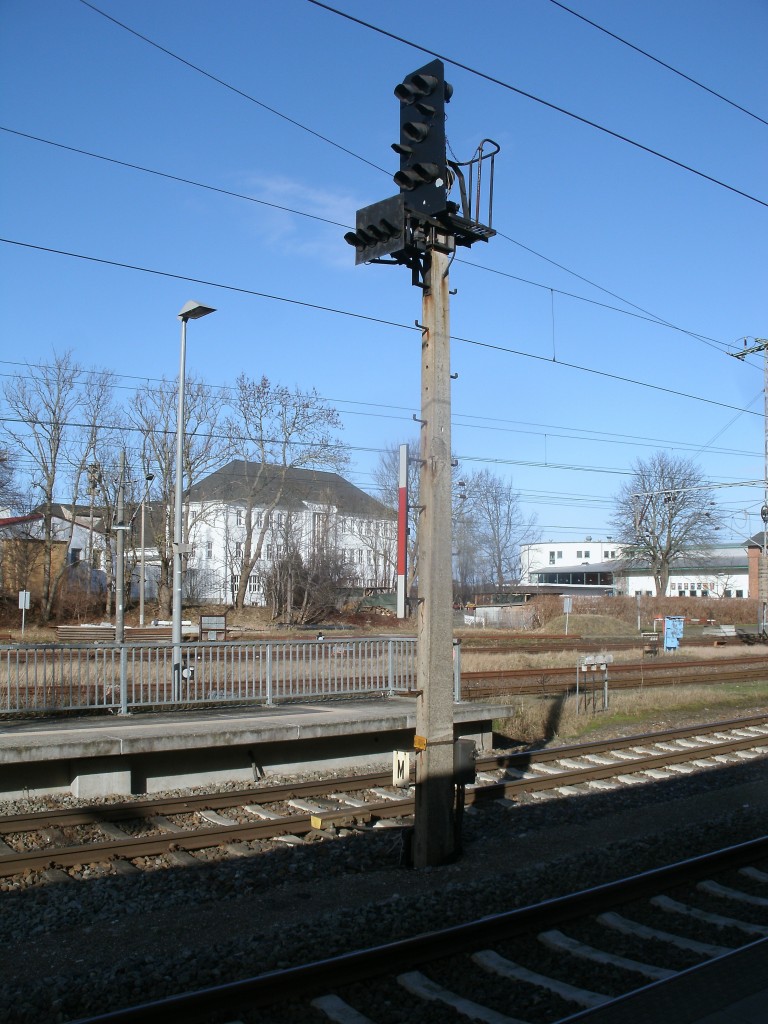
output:
M566 742L606 735L653 732L693 721L762 714L768 682L671 686L609 692L607 711L577 708L574 696L512 697L508 718L494 722L500 745ZM598 703L599 707L599 703Z

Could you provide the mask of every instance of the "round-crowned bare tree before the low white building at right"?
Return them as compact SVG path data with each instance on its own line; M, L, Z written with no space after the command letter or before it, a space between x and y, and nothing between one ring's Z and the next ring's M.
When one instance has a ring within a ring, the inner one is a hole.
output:
M647 564L664 597L675 558L703 554L716 541L712 486L690 460L656 452L633 466L615 498L611 523L629 564Z

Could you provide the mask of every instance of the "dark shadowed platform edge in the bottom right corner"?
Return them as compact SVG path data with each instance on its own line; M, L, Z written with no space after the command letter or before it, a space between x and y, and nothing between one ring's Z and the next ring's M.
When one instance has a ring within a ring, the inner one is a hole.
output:
M656 982L563 1024L765 1024L768 939Z

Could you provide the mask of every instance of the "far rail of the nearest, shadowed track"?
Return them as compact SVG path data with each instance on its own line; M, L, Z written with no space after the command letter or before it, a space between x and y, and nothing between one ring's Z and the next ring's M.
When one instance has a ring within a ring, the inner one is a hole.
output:
M768 837L762 837L569 896L288 970L271 971L125 1010L81 1018L73 1024L165 1024L169 1019L193 1024L211 1012L220 1013L245 1006L257 1009L278 999L313 994L329 986L338 990L354 982L394 975L403 970L412 971L417 965L464 953L479 945L487 946L493 942L546 931L569 921L601 913L665 889L698 881L716 871L754 863L767 855Z

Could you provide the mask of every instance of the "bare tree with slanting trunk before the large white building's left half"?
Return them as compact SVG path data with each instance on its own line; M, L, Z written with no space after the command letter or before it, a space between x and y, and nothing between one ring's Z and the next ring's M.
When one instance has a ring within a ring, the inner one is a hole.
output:
M240 582L234 605L245 603L248 581L261 558L271 513L284 498L290 469L340 470L348 462L336 432L341 420L312 389L291 390L266 377L241 374L234 385L233 417L228 422L232 449L243 459L243 534ZM276 471L276 472L275 472Z

